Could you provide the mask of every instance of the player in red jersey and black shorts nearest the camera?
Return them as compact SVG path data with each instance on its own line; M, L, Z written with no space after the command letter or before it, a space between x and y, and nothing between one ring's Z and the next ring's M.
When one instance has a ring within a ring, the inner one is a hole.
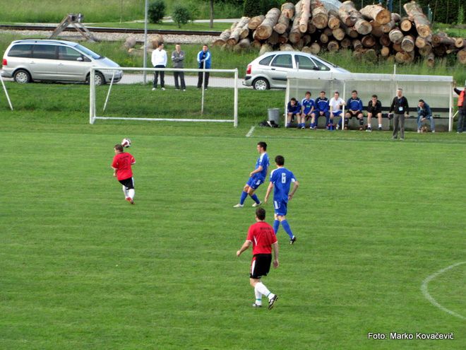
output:
M237 251L237 257L242 252L253 246L253 258L251 261L250 282L256 294L256 302L253 303L254 308L262 307L262 295L268 298L268 309L273 308L273 304L277 301L278 296L268 290L262 283L261 276L267 276L270 271L270 263L272 262L273 249L273 267L278 267L278 241L277 236L273 232L272 226L265 221L265 209L256 209L256 223L249 226L248 236L242 247Z

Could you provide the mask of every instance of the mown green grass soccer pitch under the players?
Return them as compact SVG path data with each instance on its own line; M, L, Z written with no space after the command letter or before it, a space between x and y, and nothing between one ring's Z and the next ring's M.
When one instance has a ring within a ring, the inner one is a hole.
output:
M31 86L35 95L11 89L25 96L15 112L0 101L0 349L465 349L466 264L427 286L456 316L421 289L466 261L464 134L394 142L390 132L258 128L246 138L248 112L237 129L91 126L86 86ZM259 104L280 93L247 92ZM135 206L109 168L125 136ZM253 208L232 206L258 141L301 185L288 215L298 241L280 228L281 266L264 281L280 296L271 311L251 308L250 252L235 256Z

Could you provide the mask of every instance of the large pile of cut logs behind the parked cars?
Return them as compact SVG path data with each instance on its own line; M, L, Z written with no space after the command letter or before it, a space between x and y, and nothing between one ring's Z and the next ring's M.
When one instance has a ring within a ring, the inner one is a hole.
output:
M345 1L338 11L328 11L320 0L300 0L296 5L283 4L281 10L271 8L265 16L241 18L213 45L234 51L254 47L261 54L277 49L312 54L352 49L354 57L398 63L422 57L429 66L434 66L436 57L457 54L458 61L466 64L465 38L432 33L415 1L403 7L405 18L380 5L358 11L352 1Z

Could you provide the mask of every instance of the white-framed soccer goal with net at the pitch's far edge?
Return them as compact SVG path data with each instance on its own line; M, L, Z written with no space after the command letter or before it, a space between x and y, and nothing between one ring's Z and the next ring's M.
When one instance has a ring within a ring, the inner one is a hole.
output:
M115 83L114 77L119 76L120 71L123 77ZM97 86L97 75L104 77L106 84ZM156 85L155 75L158 76ZM165 81L163 89L162 75ZM184 83L181 76L184 77ZM231 122L237 127L238 82L237 69L92 69L90 124L94 124L97 119L120 119Z

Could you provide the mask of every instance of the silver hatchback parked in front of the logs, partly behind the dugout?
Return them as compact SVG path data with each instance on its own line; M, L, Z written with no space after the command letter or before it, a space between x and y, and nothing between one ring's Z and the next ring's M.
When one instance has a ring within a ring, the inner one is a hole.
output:
M295 51L267 52L248 64L243 85L256 90L286 88L287 74L299 71L303 78L327 76L330 72L349 73L346 69L313 54Z

